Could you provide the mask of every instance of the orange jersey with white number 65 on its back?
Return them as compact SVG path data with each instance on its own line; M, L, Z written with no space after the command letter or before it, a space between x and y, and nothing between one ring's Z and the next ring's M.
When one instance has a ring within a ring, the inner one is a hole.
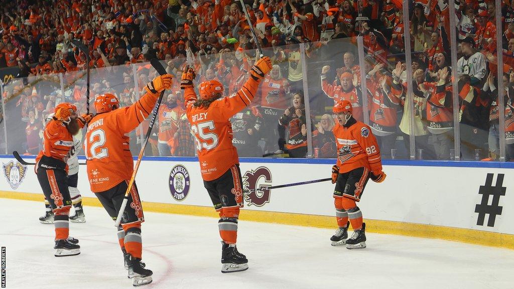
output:
M195 107L196 93L192 87L184 91L186 113L196 139L201 176L214 180L239 163L232 145L232 124L229 119L252 102L259 81L249 78L243 87L230 97L212 102L209 107Z

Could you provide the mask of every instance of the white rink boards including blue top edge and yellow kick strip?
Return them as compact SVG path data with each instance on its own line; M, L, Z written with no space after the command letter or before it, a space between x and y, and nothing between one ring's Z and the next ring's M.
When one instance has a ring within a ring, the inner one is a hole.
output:
M43 200L33 166L22 166L9 156L1 160L0 197ZM326 178L334 163L242 159L242 186L259 189ZM387 179L381 184L370 180L358 206L371 232L514 249L512 168L500 162L384 161ZM84 204L100 206L89 191L85 170L80 166ZM200 170L196 158L145 157L136 177L144 210L216 216ZM333 189L331 182L322 182L245 193L241 220L335 227Z

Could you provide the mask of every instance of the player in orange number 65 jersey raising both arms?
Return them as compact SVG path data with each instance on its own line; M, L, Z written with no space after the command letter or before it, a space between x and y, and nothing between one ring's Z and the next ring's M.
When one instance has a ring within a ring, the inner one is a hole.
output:
M223 97L223 85L216 80L199 85L200 98L193 88L192 68L182 74L186 112L196 139L198 160L204 186L219 213L219 234L222 238L222 273L248 269L246 256L237 251L237 219L243 207L243 187L237 150L232 145L229 119L247 107L266 73L271 69L268 57L261 58L250 69L243 87L230 97Z

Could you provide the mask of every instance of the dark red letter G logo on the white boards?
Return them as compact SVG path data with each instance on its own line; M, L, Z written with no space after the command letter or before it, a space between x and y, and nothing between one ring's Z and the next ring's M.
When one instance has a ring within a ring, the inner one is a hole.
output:
M266 188L270 186L271 172L268 168L259 167L256 170L245 172L243 175L243 191L248 206L262 207L269 203L271 193Z

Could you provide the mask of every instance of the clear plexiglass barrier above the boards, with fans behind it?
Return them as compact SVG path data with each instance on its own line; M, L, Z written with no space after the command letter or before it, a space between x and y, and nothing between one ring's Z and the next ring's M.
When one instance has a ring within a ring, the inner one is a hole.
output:
M370 3L343 4L356 16L324 27L322 41L300 37L263 49L273 68L246 109L231 118L239 155L335 158L332 107L346 99L354 117L370 125L384 159L514 157L514 24L505 15L496 17L502 9L514 14L511 5L405 0L376 2L384 12L377 14ZM196 154L179 88L186 65L196 70L196 86L218 80L229 97L247 81L258 57L256 50L213 49L162 61L175 81L164 94L144 154ZM155 75L149 63L91 69L91 113L102 93L115 94L121 106L134 104ZM2 85L0 150L37 154L54 106L67 101L85 113L86 91L85 70ZM147 130L145 120L130 133L134 155Z

